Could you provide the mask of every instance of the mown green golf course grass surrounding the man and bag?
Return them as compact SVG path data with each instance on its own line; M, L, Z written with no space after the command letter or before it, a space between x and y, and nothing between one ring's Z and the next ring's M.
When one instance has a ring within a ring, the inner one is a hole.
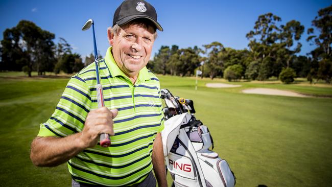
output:
M214 150L228 161L236 186L329 186L332 183L332 85L277 80L158 75L161 88L194 101L196 118L208 126ZM30 144L55 110L69 76L26 77L0 73L0 182L2 186L70 186L66 164L38 168ZM207 87L208 83L235 84ZM271 88L305 97L244 93ZM168 175L169 186L172 183Z

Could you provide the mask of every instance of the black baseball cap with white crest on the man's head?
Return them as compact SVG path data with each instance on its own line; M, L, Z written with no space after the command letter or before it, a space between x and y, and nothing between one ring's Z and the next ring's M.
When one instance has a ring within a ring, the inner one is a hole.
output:
M144 0L126 0L114 12L113 26L122 26L136 18L150 19L159 31L163 31L157 22L157 12L154 7Z

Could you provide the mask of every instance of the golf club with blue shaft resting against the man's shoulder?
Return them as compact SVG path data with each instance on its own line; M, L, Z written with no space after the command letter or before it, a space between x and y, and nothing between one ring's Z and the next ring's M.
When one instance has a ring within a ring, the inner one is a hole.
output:
M94 22L92 19L89 19L84 24L82 31L86 31L90 29L92 25L92 34L93 34L93 49L94 49L94 64L96 64L96 75L97 75L97 101L98 101L98 108L101 108L104 105L104 97L103 97L103 87L99 80L99 59L97 53L97 44L96 44L96 37L94 36ZM110 135L107 133L102 133L99 136L100 145L102 147L109 147L111 145Z

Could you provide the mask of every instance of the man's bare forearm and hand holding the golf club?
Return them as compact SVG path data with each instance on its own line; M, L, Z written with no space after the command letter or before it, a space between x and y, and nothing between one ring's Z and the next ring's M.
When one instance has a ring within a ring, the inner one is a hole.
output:
M82 132L66 137L36 137L31 144L30 158L36 166L58 166L98 143L101 133L114 135L113 119L117 110L106 107L91 110L86 117Z

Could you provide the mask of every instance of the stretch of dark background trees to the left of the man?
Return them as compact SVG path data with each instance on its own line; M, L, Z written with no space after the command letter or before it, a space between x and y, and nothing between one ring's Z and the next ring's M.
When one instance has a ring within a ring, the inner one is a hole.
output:
M0 71L24 71L31 77L32 71L38 76L60 71L72 74L87 65L80 54L72 52L72 46L64 38L60 37L57 44L54 40L55 34L42 30L34 22L19 21L16 27L4 31ZM86 63L93 61L92 53L85 57Z

